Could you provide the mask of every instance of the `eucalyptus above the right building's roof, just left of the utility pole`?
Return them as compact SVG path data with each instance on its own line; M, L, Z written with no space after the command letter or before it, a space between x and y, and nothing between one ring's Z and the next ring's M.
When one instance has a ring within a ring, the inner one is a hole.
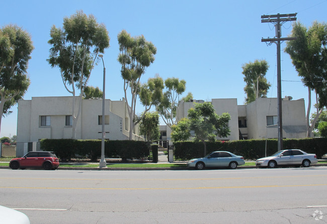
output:
M269 65L266 60L255 60L242 65L242 74L246 87L244 91L247 94L246 103L255 101L259 97L267 97L268 89L271 84L267 82L265 75Z

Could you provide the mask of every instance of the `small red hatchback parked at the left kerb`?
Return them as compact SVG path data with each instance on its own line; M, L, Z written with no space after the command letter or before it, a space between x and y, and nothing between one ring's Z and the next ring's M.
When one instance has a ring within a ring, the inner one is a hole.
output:
M45 170L57 169L59 166L59 160L53 152L28 152L22 158L12 159L9 163L9 167L13 170L21 168L44 168Z

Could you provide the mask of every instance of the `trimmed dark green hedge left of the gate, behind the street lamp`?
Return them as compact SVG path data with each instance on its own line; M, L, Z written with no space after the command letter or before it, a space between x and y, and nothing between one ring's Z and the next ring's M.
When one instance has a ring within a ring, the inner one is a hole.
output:
M42 139L41 149L53 151L60 160L81 157L97 161L101 157L101 140ZM145 159L150 154L150 145L141 141L105 141L105 157Z

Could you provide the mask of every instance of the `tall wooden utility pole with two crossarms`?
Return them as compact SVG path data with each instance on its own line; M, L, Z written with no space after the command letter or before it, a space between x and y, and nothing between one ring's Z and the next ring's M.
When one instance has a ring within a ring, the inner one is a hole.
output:
M277 14L261 16L261 23L275 24L276 35L274 38L261 39L261 42L270 42L269 45L275 43L277 45L277 116L278 116L278 151L283 150L283 122L282 122L282 85L281 85L281 59L280 59L280 42L295 40L296 38L281 38L281 25L288 21L296 21L296 13L294 14Z

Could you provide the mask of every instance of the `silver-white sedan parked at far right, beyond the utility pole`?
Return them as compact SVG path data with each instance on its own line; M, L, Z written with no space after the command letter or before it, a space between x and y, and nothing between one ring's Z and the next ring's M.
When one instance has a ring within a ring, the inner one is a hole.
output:
M272 156L256 160L257 167L276 168L283 165L309 167L311 163L317 163L315 154L308 154L299 149L281 150Z

